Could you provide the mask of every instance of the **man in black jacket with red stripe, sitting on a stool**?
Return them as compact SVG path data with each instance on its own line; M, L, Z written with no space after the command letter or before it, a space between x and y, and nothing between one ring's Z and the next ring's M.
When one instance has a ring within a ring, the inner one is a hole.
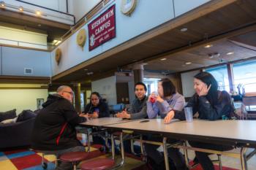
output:
M73 91L62 85L57 93L49 95L42 104L32 133L32 148L57 156L65 152L84 151L76 137L75 126L87 120L87 115L78 115L72 105ZM72 164L61 162L56 169L72 169Z

